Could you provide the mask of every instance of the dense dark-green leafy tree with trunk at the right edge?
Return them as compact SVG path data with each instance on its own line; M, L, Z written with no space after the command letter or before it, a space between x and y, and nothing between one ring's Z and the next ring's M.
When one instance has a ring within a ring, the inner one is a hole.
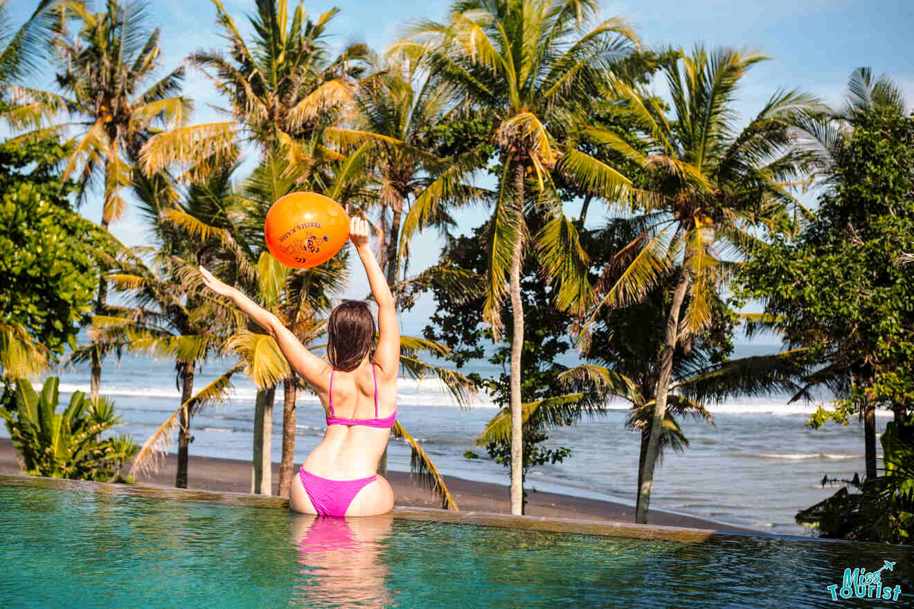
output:
M877 477L876 409L900 423L914 406L914 279L899 259L914 249L914 117L888 79L856 70L848 104L807 132L824 192L795 238L774 238L742 269L741 299L760 299L749 330L780 333L813 372L797 394L834 395L808 425L864 423L866 478Z

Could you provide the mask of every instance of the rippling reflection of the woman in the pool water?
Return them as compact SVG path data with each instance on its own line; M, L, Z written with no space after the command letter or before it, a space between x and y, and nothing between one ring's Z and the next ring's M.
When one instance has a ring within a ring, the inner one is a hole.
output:
M388 568L380 555L392 527L390 514L350 519L295 515L292 542L301 569L292 606L391 604Z

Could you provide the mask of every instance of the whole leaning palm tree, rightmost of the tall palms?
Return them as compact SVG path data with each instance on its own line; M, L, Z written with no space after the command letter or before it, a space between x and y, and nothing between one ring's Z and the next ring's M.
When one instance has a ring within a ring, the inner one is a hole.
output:
M616 132L583 130L584 137L621 153L647 174L647 185L636 193L645 228L607 266L590 320L601 307L640 301L662 279L673 278L655 365L656 399L637 522L647 521L677 345L707 327L717 289L739 264L734 258L749 253L759 232L793 230L789 212L802 209L790 187L805 179L811 159L793 145L792 130L822 106L807 94L778 91L737 131L734 95L746 70L763 59L730 48L681 53L662 70L672 117L660 100L615 83L624 108L643 132L643 150ZM624 271L617 273L618 268Z

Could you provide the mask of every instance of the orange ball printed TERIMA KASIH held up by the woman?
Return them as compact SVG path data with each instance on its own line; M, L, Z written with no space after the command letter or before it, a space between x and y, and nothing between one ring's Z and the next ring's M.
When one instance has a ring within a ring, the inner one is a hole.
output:
M282 264L312 268L345 246L349 216L323 194L291 193L270 206L263 232L267 248Z

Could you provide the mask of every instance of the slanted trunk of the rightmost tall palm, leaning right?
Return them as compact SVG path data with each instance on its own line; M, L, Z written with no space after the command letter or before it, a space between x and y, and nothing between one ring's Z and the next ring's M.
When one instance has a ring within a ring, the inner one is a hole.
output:
M670 388L670 378L673 375L673 352L679 335L679 310L685 300L685 291L689 282L689 256L686 253L682 270L679 272L679 281L673 292L673 302L670 304L670 313L666 318L666 335L664 346L657 358L657 391L654 398L654 418L651 422L651 436L647 441L647 452L644 455L643 475L638 486L638 503L635 511L635 522L647 524L647 511L651 503L651 487L654 485L654 465L657 462L657 453L660 450L660 433L664 428L664 415L666 415L666 396Z

